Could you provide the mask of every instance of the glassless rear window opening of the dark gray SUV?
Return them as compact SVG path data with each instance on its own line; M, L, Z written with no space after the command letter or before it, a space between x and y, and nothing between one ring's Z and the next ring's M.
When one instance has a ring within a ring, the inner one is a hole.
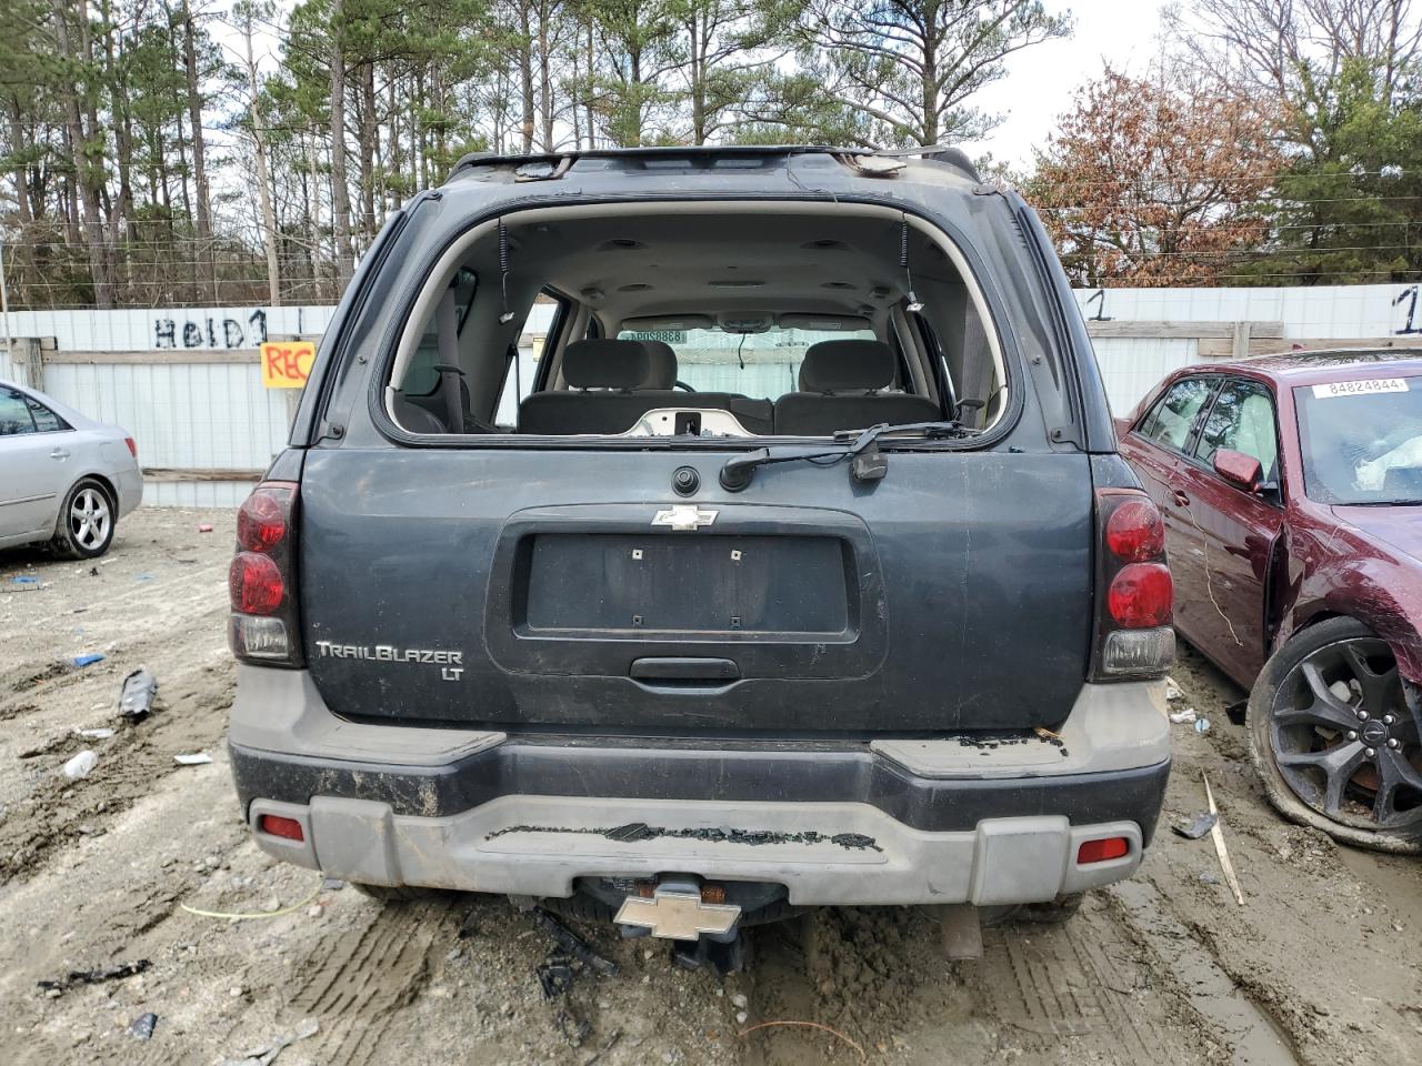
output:
M985 323L957 247L896 210L526 210L444 254L384 395L402 429L471 445L987 429L1008 378Z

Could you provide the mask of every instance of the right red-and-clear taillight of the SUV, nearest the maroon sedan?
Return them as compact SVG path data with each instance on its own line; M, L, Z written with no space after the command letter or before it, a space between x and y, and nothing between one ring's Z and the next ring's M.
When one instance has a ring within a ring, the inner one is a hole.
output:
M1165 523L1139 489L1096 492L1096 641L1092 678L1156 678L1175 659L1175 584Z

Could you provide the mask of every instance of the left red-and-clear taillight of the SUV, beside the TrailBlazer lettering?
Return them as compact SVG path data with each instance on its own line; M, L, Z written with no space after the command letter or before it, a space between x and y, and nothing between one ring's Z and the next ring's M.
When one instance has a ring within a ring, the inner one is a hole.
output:
M300 667L296 613L296 483L263 482L237 512L228 570L228 638L243 662Z

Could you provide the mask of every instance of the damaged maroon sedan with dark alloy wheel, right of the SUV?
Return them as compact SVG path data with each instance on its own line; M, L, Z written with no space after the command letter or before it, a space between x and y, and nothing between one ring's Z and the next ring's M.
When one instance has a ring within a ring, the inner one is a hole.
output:
M1165 516L1176 628L1251 689L1270 799L1422 851L1422 358L1189 367L1118 428Z

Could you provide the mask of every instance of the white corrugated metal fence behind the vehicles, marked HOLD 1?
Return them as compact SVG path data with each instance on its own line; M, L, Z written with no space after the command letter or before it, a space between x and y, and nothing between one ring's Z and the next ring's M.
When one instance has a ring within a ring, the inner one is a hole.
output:
M1112 408L1202 358L1338 343L1422 345L1416 286L1108 289L1076 293ZM54 338L44 388L138 441L145 468L205 472L149 482L148 503L233 506L286 441L286 391L264 389L256 345L319 335L330 307L11 311L11 337ZM550 307L535 307L532 335ZM186 355L185 355L186 352ZM529 364L525 362L525 367ZM0 378L23 378L0 347ZM532 377L532 375L526 375Z

